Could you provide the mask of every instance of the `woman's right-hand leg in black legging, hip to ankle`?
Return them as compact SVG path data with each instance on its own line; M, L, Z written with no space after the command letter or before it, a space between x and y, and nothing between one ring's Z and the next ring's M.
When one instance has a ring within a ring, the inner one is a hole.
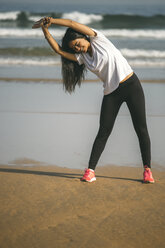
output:
M151 145L146 123L145 98L141 83L136 75L134 75L134 81L129 85L128 91L126 103L139 139L143 165L150 168Z

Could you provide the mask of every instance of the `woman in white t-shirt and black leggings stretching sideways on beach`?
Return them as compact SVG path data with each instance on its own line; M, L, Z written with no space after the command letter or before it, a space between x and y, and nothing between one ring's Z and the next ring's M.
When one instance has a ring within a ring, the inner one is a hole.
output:
M62 47L51 36L51 24L68 27ZM104 86L100 127L93 144L89 166L82 181L96 180L95 168L112 131L119 108L127 103L137 133L143 160L143 182L154 183L151 172L150 138L146 124L144 93L139 79L120 51L99 31L67 19L45 17L33 25L41 27L53 50L61 55L65 90L73 92L81 84L85 69L95 73Z

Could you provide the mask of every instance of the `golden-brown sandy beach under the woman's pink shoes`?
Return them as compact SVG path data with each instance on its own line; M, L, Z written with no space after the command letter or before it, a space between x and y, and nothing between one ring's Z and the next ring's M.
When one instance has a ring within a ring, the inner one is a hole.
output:
M105 166L97 181L56 166L0 166L1 248L164 248L165 171Z

